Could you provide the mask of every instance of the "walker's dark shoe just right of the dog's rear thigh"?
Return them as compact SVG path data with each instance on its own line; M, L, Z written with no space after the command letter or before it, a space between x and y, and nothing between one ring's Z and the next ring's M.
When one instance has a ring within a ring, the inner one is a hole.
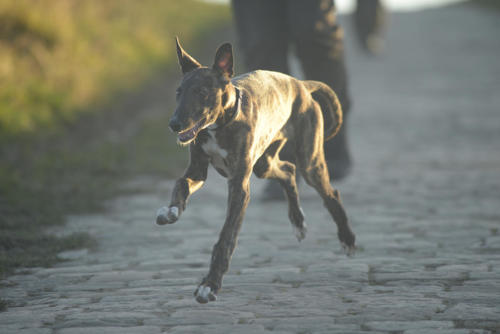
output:
M347 149L346 122L333 139L325 143L325 158L330 180L341 180L351 172L352 161Z

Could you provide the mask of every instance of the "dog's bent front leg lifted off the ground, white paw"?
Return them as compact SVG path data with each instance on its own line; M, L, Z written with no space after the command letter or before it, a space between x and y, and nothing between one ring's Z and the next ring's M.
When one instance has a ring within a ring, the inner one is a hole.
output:
M175 223L186 209L189 196L200 189L207 179L208 157L196 144L192 144L189 150L189 166L184 175L175 182L170 205L161 207L156 213L158 225Z

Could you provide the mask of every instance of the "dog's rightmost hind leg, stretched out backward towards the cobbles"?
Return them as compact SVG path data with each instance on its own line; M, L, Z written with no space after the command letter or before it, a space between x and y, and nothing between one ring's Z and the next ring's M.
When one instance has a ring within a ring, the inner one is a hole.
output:
M302 137L296 141L297 165L307 184L316 189L323 199L325 207L337 224L338 238L350 255L355 249L355 236L340 202L340 194L330 184L323 151L322 116L317 103L314 103L314 109L306 113L299 126L301 128L299 136Z

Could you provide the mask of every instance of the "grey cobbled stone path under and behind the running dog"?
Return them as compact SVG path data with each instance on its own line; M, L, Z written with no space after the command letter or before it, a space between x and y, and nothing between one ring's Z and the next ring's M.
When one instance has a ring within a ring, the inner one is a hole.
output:
M57 231L89 232L97 249L0 283L0 333L500 333L499 31L498 12L456 6L394 14L383 58L348 43L355 168L337 186L354 257L312 190L297 243L253 178L219 300L200 305L225 182L210 174L158 227L173 183L138 177L134 195Z

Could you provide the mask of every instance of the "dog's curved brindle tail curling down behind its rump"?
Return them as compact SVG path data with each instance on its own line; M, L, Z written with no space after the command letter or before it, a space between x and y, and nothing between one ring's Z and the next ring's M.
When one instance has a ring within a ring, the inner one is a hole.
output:
M342 107L337 94L327 84L319 81L305 80L304 85L321 107L324 137L327 141L337 134L342 125Z

